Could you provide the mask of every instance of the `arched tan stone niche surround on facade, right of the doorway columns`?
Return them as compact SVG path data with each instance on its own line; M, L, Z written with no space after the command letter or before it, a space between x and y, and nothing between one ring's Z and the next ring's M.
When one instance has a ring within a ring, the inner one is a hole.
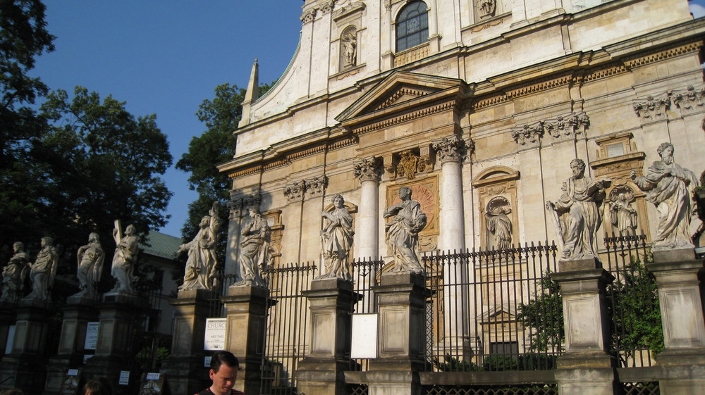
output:
M480 245L483 249L492 249L496 245L494 235L487 228L487 213L509 208L507 214L512 222L512 243L519 242L517 215L517 180L520 173L506 166L493 166L487 168L472 181L472 186L477 189L480 208Z

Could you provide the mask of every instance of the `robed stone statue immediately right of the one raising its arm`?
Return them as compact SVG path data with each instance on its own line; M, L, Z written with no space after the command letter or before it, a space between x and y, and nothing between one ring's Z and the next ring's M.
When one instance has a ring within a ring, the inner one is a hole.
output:
M252 222L243 229L243 241L240 242L240 246L242 246L240 271L243 280L235 285L238 287L266 287L266 282L259 272L259 266L266 267L271 230L266 223L266 218L259 213L257 208L251 207L248 212Z

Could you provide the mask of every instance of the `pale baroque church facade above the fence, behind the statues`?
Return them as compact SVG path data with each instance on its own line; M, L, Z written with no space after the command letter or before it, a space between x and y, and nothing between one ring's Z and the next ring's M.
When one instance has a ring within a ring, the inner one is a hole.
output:
M253 66L233 160L226 272L247 208L271 227L269 263L321 261L320 213L342 194L353 258L388 256L385 207L410 187L422 251L554 240L544 202L570 161L610 178L599 237L636 212L631 180L658 160L705 169L705 20L685 0L305 0L298 49L264 96ZM619 207L617 207L619 206ZM616 217L615 217L616 218Z

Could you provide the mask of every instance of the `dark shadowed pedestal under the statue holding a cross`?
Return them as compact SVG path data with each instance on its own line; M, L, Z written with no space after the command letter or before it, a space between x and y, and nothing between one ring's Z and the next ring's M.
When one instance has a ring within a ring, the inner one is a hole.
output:
M109 382L118 382L120 372L130 371L130 386L139 381L135 372L133 334L138 303L144 301L136 296L106 295L99 304L98 342L95 354L85 365L86 380L105 377Z

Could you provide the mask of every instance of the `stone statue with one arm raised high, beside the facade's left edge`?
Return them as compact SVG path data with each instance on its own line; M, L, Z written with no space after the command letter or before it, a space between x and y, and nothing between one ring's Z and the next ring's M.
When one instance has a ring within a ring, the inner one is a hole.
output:
M188 251L186 272L179 289L214 289L216 278L216 243L221 220L218 218L218 202L201 218L200 230L190 243L181 244L177 252Z

